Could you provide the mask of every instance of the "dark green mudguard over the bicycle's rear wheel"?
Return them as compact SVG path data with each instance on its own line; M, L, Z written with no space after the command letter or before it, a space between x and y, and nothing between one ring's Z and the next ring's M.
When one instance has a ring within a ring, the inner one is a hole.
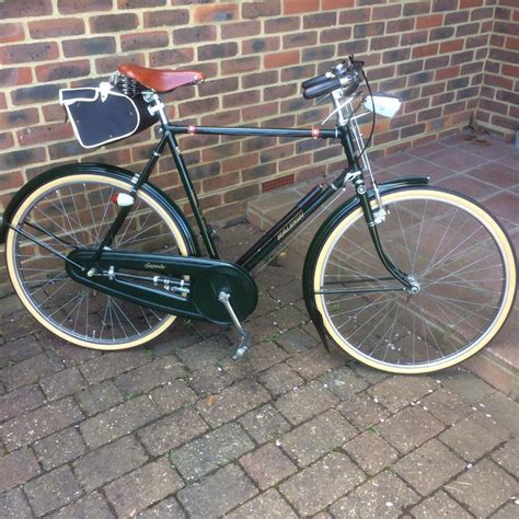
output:
M116 176L119 178L128 180L134 176L134 173L125 170L123 168L118 168L115 165L109 164L94 164L94 163L73 163L73 164L65 164L57 168L53 168L50 170L41 173L39 175L35 176L31 181L28 181L20 191L18 191L14 196L11 198L8 207L3 211L3 215L0 220L0 243L5 242L5 235L8 232L8 223L11 223L12 218L19 208L20 204L25 199L25 197L32 193L34 189L37 189L42 185L46 184L47 182L51 182L55 178L59 178L60 176L70 175L70 174L80 174L85 172L91 173L99 173L101 175L106 176ZM178 228L183 232L184 237L186 238L189 246L189 252L193 255L199 256L200 250L198 247L198 243L196 238L193 233L193 230L187 222L184 215L181 212L178 207L175 203L173 203L168 196L157 186L150 183L146 183L142 185L141 189L146 191L148 194L154 196L172 215L175 222L178 224Z

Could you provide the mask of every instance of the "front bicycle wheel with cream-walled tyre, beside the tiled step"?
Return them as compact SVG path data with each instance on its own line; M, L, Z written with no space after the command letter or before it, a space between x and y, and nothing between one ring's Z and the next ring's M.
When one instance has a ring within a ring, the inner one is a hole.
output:
M475 201L438 188L387 193L378 226L404 290L384 269L356 207L321 239L310 266L312 303L331 337L373 368L425 373L483 348L507 319L516 291L514 249Z

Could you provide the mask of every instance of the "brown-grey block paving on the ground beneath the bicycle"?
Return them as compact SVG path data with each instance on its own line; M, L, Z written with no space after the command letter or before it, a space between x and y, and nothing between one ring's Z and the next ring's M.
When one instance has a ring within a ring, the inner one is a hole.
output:
M239 254L257 232L221 235ZM518 517L518 404L464 369L327 354L298 274L257 274L238 362L218 326L101 353L0 300L0 517Z

